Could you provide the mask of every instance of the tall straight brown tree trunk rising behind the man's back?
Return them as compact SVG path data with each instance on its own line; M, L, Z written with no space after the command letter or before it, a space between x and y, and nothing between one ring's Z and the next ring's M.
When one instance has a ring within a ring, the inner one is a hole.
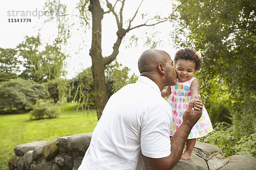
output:
M98 120L108 101L105 82L105 63L102 57L102 18L103 9L99 0L90 0L89 10L92 13L92 45L90 57L92 59L93 87Z

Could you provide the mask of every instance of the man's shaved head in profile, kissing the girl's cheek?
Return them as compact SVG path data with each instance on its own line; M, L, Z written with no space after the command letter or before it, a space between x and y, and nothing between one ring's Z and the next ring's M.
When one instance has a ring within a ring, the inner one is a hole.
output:
M177 74L172 59L165 51L149 49L141 54L138 61L140 74L158 82L158 86L175 85Z

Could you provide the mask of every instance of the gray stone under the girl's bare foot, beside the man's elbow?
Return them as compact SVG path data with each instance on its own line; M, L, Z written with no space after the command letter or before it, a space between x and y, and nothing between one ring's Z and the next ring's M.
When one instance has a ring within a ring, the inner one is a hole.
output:
M172 170L208 170L206 161L195 154L191 158L183 161L179 160Z

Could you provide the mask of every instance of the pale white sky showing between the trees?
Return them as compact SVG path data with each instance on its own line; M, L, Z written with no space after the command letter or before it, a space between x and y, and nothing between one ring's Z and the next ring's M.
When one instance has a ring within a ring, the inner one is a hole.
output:
M47 23L43 24L47 16L43 16L46 11L44 9L44 3L46 0L5 0L1 2L0 6L0 47L1 48L15 48L19 43L24 41L25 36L36 36L38 29L41 28L40 35L41 41L51 43L57 34L56 24ZM111 1L111 0L110 0ZM112 0L113 1L113 0ZM61 0L62 3L67 4L67 13L76 14L74 11L78 0ZM126 4L127 8L124 8L125 17L131 18L139 5L138 0L129 0ZM141 11L147 11L148 16L154 16L155 14L167 14L170 13L172 6L166 0L144 0ZM25 15L24 16L24 12ZM23 15L22 15L23 14ZM139 14L137 15L139 16ZM31 22L15 23L9 22L14 19L22 18L30 19ZM79 22L78 18L72 18L75 23ZM140 22L135 20L135 24ZM67 48L64 53L69 54L69 58L65 61L67 66L67 79L75 77L77 73L82 69L91 66L91 59L89 56L90 42L91 42L91 30L88 29L86 33L83 30L79 30L78 24L73 27L71 32L71 38L68 41ZM123 66L127 66L131 69L130 75L135 73L139 75L137 68L137 61L140 55L148 49L144 45L145 33L150 34L157 31L155 39L161 40L157 49L161 49L170 54L173 58L178 49L173 48L172 39L169 36L172 26L169 23L160 24L154 28L139 28L128 32L125 35L125 39L119 48L119 54L116 57L117 61ZM112 52L113 43L116 40L116 23L111 14L104 15L102 20L102 54L108 56ZM132 35L139 37L137 46L129 46L129 37ZM83 42L84 40L84 42Z

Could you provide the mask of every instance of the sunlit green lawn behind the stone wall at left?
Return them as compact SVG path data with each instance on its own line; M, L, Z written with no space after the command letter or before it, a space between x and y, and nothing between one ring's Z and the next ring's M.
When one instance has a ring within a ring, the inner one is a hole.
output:
M29 113L0 115L0 170L8 170L14 147L34 141L55 141L62 136L93 132L98 120L95 110L76 111L75 103L61 105L56 119L29 120Z

